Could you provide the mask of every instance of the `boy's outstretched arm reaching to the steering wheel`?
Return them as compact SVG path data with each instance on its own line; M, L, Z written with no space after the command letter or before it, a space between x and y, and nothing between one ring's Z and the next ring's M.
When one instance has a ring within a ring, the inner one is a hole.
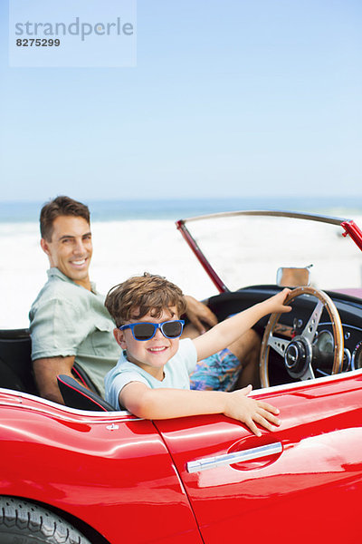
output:
M235 340L249 330L252 325L255 325L263 316L274 312L278 314L290 312L291 306L283 306L284 300L290 293L291 290L285 288L277 295L251 306L240 312L240 314L236 314L236 316L225 319L204 335L197 336L193 340L197 352L197 360L205 359L221 351L228 345L233 344Z

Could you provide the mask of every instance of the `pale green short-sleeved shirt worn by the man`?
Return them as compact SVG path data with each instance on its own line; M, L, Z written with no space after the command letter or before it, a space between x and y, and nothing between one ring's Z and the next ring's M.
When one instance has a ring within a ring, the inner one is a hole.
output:
M74 355L104 396L104 376L121 352L104 296L94 284L89 291L58 268L50 268L47 274L48 281L29 313L32 359Z

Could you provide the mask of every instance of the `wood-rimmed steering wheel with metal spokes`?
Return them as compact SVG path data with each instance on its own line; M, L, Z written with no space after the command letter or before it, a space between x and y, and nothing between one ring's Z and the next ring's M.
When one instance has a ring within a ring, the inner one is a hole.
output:
M288 306L297 296L311 295L318 299L317 305L304 326L300 335L294 336L291 340L274 336L281 314L271 314L268 325L265 328L262 337L262 348L260 355L260 378L262 387L269 387L269 353L273 349L281 355L287 373L292 378L300 380L310 380L314 378L312 362L312 342L317 332L320 317L323 309L326 308L329 313L330 322L333 328L334 355L332 374L338 374L342 370L344 342L343 329L340 322L338 310L332 299L323 291L313 287L297 287L287 296L284 304ZM282 328L282 326L280 326ZM281 331L282 334L282 331Z

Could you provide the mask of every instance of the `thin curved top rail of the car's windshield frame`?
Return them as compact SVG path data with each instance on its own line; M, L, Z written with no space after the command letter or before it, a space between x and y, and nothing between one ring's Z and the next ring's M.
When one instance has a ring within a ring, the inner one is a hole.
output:
M331 216L322 216L319 214L303 213L299 211L281 211L278 209L250 209L240 211L224 211L220 213L211 213L204 216L195 216L193 218L181 219L184 223L189 221L199 221L201 219L219 219L230 218L233 216L265 216L265 217L279 217L279 218L292 218L292 219L307 219L310 221L319 221L322 223L330 223L332 225L341 225L345 221L351 219L336 218Z

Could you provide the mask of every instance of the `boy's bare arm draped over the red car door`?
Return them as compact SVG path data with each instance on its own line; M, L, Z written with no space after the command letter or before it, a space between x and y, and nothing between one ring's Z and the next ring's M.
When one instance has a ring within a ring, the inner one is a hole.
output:
M188 415L224 413L245 423L261 436L256 423L271 431L280 425L279 410L269 403L255 401L246 395L252 391L248 385L239 391L190 391L185 389L150 389L140 382L125 385L119 393L119 403L129 412L145 419L171 419Z

